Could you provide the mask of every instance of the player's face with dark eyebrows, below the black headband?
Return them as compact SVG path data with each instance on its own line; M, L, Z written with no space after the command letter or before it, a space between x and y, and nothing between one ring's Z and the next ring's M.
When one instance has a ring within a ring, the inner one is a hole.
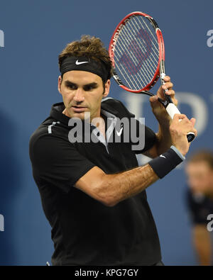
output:
M103 86L102 78L86 71L65 72L58 78L58 91L62 94L66 116L84 119L89 112L91 121L99 118L101 102L109 94L110 80Z

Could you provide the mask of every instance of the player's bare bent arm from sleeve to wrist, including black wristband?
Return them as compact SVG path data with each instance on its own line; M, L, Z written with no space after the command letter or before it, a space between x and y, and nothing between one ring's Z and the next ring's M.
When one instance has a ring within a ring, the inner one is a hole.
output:
M182 162L178 153L172 147L143 167L116 174L106 174L99 167L93 167L76 182L75 187L106 206L114 206L165 177Z

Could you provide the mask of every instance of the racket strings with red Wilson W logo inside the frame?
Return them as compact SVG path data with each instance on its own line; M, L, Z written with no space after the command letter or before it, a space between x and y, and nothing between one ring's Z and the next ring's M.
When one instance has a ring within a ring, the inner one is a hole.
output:
M133 90L143 89L152 81L158 59L158 40L151 22L143 16L130 18L121 28L114 50L122 82Z

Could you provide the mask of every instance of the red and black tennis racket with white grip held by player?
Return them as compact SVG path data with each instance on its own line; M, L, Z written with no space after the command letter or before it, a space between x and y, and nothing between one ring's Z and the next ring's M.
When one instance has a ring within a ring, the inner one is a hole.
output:
M154 96L149 90L160 77L165 84L165 50L163 35L155 20L139 11L129 13L116 27L109 43L113 77L122 89ZM171 118L180 113L170 96L158 98ZM180 120L181 121L181 120ZM187 133L188 142L195 133Z

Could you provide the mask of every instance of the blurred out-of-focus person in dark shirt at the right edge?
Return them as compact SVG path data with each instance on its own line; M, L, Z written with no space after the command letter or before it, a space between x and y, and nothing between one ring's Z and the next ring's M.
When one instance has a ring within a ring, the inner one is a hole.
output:
M200 265L212 265L212 236L207 220L213 214L213 152L200 150L187 159L187 207L192 243Z

